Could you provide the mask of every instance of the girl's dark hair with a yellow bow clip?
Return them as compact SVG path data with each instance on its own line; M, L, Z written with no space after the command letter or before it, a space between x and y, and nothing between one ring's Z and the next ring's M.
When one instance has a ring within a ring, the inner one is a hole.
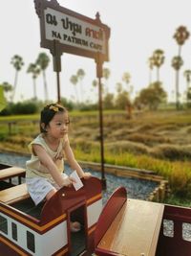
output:
M41 132L47 132L46 128L49 125L49 123L52 121L53 116L58 112L65 112L67 113L67 109L58 104L50 104L46 105L42 111L40 112L40 131ZM44 124L44 127L42 127L42 124Z

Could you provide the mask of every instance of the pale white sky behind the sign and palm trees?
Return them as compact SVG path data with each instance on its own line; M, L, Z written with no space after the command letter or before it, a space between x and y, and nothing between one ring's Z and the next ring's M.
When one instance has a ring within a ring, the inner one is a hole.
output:
M101 22L111 29L109 39L109 61L103 67L109 68L111 75L106 82L109 92L116 93L117 82L122 82L124 72L131 74L130 83L134 95L138 94L149 82L148 58L156 49L164 51L164 64L159 77L163 88L173 100L175 91L175 70L171 60L178 55L178 45L173 38L180 26L185 26L191 33L191 14L189 0L57 0L60 6L95 18L99 12ZM30 63L35 62L39 53L46 53L51 58L46 70L49 100L57 100L56 74L53 72L53 59L49 49L40 47L39 18L32 0L6 0L0 10L0 83L8 81L13 84L15 69L11 58L19 55L25 64L18 74L18 83L14 101L32 98L32 74L27 73ZM184 64L180 69L180 93L186 88L183 71L191 69L191 36L182 47L181 56ZM82 81L83 99L95 101L97 89L93 90L92 81L96 79L96 62L93 58L78 57L63 53L60 73L61 97L75 99L74 85L70 82L72 75L79 68L85 71ZM152 79L157 78L156 70ZM124 87L126 86L123 83ZM79 89L79 86L78 86ZM37 96L45 99L43 79L36 80Z

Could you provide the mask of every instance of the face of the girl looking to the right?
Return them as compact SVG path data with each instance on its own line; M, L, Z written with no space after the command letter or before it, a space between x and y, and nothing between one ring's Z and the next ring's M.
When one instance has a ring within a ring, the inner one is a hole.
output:
M47 126L47 135L60 139L68 133L69 126L68 113L58 112L53 116L52 121Z

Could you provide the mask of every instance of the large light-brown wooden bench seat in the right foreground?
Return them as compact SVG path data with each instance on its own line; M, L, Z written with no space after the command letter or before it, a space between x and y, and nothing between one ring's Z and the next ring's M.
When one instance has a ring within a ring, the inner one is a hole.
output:
M97 252L155 256L163 208L159 203L128 199L97 245Z

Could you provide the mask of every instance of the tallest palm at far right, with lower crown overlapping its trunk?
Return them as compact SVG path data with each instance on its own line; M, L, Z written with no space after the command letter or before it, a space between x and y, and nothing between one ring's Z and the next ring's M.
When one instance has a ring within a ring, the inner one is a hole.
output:
M173 35L173 37L176 39L178 45L179 45L179 50L178 50L178 57L174 58L175 62L178 62L178 64L175 63L175 69L176 69L176 98L177 98L177 109L179 109L180 107L180 103L179 103L179 71L180 71L180 67L181 65L181 62L182 62L182 59L180 58L180 53L181 53L181 46L184 44L185 40L188 39L189 37L189 32L187 31L186 27L184 26L180 26L177 30L176 30L176 33ZM177 68L176 68L176 65L177 65Z

